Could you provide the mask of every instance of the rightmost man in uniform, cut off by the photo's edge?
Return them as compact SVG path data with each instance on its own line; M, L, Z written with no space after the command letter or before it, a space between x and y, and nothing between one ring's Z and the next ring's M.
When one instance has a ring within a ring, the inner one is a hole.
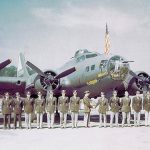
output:
M150 126L150 92L147 91L143 99L143 109L145 110L145 126Z

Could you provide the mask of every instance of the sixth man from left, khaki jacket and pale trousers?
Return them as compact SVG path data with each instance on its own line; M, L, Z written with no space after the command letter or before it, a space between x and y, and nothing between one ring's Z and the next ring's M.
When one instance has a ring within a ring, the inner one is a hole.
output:
M62 96L58 98L58 108L60 111L60 126L61 128L66 128L69 100L68 97L66 97L65 90L62 90L61 94Z

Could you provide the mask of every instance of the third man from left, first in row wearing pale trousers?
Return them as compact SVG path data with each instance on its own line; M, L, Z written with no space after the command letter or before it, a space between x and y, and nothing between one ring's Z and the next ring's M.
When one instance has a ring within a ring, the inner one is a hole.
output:
M25 124L27 129L31 129L31 117L34 109L34 101L30 97L31 93L27 92L27 97L24 100Z

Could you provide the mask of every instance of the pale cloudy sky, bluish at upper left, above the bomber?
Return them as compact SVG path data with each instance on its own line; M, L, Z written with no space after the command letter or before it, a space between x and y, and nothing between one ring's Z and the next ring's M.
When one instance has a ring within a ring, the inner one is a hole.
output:
M108 24L113 54L150 74L148 0L0 0L0 61L20 52L41 69L59 68L78 49L104 52Z

